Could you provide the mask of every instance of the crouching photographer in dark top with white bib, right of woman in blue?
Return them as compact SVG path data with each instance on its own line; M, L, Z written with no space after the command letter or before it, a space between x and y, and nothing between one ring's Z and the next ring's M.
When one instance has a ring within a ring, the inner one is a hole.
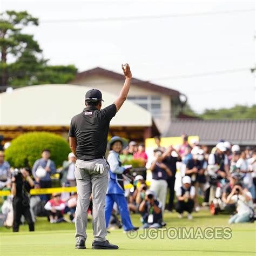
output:
M163 223L162 204L156 199L152 190L147 190L145 199L139 205L139 212L143 214L144 224L142 228L160 228Z

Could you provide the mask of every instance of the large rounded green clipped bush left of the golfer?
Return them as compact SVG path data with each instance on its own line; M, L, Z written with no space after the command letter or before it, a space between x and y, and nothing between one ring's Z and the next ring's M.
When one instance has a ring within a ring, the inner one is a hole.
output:
M5 151L5 158L16 168L29 167L41 158L43 149L51 151L51 159L56 166L62 166L70 152L69 144L57 134L50 132L28 132L12 140Z

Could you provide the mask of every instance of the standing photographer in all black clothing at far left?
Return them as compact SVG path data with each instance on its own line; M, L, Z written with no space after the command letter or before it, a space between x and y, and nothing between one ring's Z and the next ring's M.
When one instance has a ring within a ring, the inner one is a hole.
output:
M14 207L14 226L13 231L19 231L21 215L24 215L29 224L29 231L35 231L34 223L30 213L30 189L34 186L33 180L29 176L29 170L26 168L14 170L11 178L11 194L14 196L12 206Z

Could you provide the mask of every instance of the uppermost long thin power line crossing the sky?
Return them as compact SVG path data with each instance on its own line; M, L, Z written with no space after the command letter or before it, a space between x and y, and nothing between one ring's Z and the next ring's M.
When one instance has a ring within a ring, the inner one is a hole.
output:
M130 17L107 17L107 18L84 18L84 19L44 19L42 23L76 23L76 22L112 22L112 21L143 21L147 19L165 19L165 18L183 18L183 17L200 17L208 15L225 15L225 14L240 14L244 12L252 12L255 9L244 10L225 10L214 12L191 12L187 14L169 14L169 15L152 15L152 16L130 16Z

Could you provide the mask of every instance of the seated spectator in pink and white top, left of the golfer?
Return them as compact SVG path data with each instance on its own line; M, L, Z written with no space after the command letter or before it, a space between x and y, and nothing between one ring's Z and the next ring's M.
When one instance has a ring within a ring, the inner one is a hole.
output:
M60 193L53 193L52 199L44 206L51 224L63 221L63 214L66 205L65 202L60 199L60 196Z

